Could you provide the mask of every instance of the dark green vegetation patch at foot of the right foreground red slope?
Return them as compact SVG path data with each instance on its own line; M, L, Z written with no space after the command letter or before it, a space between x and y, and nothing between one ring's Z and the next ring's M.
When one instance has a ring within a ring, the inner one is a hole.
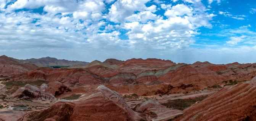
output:
M177 99L177 100L169 100L167 103L162 103L162 105L167 108L174 108L178 110L184 110L185 108L190 107L198 101L204 100L208 96L195 97L193 99Z

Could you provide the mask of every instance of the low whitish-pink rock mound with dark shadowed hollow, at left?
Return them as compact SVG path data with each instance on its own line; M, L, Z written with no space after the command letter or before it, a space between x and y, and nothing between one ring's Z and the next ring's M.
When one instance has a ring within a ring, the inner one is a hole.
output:
M21 99L55 100L55 97L52 94L41 91L36 86L32 86L30 84L26 84L24 87L19 88L12 96Z

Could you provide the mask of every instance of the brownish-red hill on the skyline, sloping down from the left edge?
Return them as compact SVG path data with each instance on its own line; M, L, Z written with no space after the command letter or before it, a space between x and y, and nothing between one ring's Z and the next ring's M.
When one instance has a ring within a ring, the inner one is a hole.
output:
M21 64L13 58L0 56L0 76L10 76L36 69L34 64Z

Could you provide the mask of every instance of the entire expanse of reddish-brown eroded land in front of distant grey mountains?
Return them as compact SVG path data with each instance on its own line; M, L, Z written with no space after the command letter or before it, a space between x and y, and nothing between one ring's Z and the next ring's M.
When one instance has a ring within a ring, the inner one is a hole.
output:
M255 76L256 63L107 59L48 68L1 56L0 121L253 121Z

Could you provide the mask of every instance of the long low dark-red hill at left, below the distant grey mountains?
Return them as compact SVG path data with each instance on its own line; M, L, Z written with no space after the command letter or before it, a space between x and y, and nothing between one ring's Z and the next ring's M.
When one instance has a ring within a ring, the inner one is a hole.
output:
M13 76L14 81L36 81L45 80L46 82L60 81L66 85L72 85L76 83L81 84L103 84L104 79L100 76L90 73L86 69L74 68L39 68L32 72L24 73L21 75Z

